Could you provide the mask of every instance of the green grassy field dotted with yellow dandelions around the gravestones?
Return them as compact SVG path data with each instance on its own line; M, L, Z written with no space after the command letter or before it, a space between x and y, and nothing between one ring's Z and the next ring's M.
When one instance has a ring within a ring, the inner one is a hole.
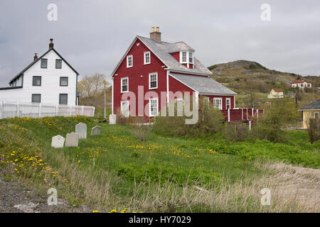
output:
M54 135L65 137L79 122L88 130L78 148L50 147ZM96 125L102 134L92 137ZM261 206L258 191L249 190L262 187L257 179L273 175L266 163L320 167L320 143L309 143L305 131L287 131L287 136L284 144L230 143L150 133L142 142L129 126L96 118L13 118L0 121L0 166L7 179L33 185L39 193L55 187L70 204L98 210L297 211L280 202Z

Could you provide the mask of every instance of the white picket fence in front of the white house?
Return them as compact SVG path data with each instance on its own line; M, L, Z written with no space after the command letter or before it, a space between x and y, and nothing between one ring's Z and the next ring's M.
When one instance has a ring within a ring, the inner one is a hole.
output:
M94 116L95 106L67 106L0 101L1 118L41 118L44 116Z

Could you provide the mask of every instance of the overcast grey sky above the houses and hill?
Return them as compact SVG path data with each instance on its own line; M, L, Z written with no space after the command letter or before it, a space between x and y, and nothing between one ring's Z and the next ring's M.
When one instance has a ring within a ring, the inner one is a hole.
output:
M48 21L48 4L58 21ZM262 4L271 21L262 21ZM210 66L233 60L273 70L320 74L320 1L64 0L0 1L0 86L33 60L55 50L80 73L112 70L135 35L159 26L167 42L183 40Z

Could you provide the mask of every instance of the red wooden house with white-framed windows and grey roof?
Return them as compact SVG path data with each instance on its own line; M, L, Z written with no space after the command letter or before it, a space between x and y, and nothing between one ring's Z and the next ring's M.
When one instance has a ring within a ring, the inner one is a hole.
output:
M162 41L159 27L156 31L152 27L150 38L137 35L111 75L112 114L122 111L124 116L152 117L172 99L181 98L171 92L191 92L196 99L206 96L223 111L227 121L245 121L253 116L253 109L235 109L236 93L211 79L211 72L194 52L186 43ZM143 90L142 97L138 97L139 89ZM135 94L130 101L127 92ZM145 96L148 92L152 94ZM166 95L161 96L161 92ZM138 99L144 99L143 106L138 106Z

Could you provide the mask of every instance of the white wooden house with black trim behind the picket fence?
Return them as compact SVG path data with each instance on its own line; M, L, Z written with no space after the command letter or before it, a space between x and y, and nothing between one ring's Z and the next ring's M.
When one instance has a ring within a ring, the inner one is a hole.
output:
M53 48L16 74L9 87L0 88L0 101L78 105L78 72Z

